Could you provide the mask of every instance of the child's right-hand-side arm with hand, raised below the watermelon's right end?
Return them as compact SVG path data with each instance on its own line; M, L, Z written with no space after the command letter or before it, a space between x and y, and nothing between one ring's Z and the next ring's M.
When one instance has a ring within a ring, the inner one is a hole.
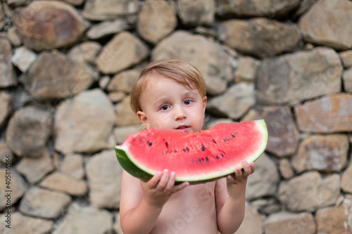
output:
M247 177L256 167L253 162L244 162L242 165L243 171L238 167L234 177L227 176L226 180L217 181L215 187L218 230L222 234L234 233L244 219Z

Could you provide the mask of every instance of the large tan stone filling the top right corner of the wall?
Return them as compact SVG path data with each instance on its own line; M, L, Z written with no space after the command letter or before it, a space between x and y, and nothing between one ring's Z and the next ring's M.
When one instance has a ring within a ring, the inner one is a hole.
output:
M352 28L346 27L352 20L351 9L351 1L318 1L298 22L304 39L337 50L352 48Z

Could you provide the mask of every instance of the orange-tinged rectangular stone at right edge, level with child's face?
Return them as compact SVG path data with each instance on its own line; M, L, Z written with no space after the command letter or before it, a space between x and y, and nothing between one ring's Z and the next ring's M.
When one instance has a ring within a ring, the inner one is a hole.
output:
M314 133L352 131L352 95L339 93L294 108L298 129Z

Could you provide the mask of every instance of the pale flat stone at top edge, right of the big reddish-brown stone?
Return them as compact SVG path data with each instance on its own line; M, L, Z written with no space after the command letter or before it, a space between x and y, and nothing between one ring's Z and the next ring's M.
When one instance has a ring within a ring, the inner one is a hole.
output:
M89 20L106 20L139 11L138 0L87 0L82 15Z

